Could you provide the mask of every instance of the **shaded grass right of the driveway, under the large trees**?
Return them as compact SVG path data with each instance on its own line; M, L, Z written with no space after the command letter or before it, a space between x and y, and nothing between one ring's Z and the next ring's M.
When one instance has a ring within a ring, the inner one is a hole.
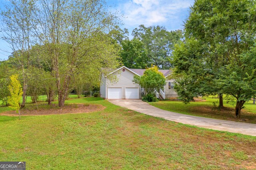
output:
M256 104L252 104L252 101L246 102L244 104L245 108L242 109L241 112L242 120L239 120L234 115L234 103L226 103L226 101L224 100L224 107L227 107L229 109L222 109L218 111L217 109L212 109L214 107L213 102L217 102L218 98L212 98L212 96L209 96L205 99L206 101L204 102L190 102L190 104L184 104L181 101L168 100L150 102L149 104L160 109L187 115L195 115L200 117L209 117L230 121L240 121L245 123L256 123Z

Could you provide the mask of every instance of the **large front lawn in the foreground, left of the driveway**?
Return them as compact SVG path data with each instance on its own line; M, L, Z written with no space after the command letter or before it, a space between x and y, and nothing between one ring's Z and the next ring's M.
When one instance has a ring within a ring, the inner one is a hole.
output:
M198 128L115 106L65 115L0 116L0 161L27 169L253 169L256 137ZM3 111L0 107L0 111Z

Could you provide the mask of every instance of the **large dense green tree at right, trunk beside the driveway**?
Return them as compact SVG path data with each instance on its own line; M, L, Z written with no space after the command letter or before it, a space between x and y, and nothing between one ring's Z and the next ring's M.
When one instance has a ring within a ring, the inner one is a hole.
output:
M184 102L199 94L229 94L240 118L256 90L255 24L254 1L196 0L185 41L174 52L176 90Z

